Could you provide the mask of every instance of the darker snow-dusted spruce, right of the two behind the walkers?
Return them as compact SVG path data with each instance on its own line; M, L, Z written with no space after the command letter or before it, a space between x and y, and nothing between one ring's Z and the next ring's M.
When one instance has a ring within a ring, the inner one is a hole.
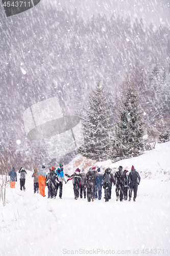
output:
M124 159L142 154L144 151L143 113L132 83L129 83L117 114L119 121L116 122L116 140L113 146L117 157Z

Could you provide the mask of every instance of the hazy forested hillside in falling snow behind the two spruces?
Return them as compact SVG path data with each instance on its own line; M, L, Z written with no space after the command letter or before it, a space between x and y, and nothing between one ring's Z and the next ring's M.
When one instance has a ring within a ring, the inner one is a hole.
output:
M37 161L46 158L41 142L25 140L23 111L58 96L65 115L83 116L88 92L99 75L109 91L113 120L127 74L135 81L148 127L152 125L151 139L157 136L156 120L161 125L168 117L167 27L155 31L152 25L144 27L142 20L131 23L101 15L85 23L76 11L58 11L49 5L36 15L30 10L29 16L22 13L1 20L0 51L1 151L9 145L16 148L15 141L20 139L20 154L27 149L30 161L32 155Z

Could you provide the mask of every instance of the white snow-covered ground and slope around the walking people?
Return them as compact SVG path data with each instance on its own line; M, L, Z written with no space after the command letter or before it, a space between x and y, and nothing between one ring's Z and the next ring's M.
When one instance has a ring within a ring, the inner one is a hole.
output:
M45 198L33 194L31 171L21 191L18 174L15 189L7 188L8 204L0 208L0 255L170 255L169 156L166 142L136 158L91 162L114 171L133 164L141 176L136 202L116 202L115 186L108 203L104 190L101 201L74 200L71 181L63 184L62 200L47 199L47 187ZM84 167L80 159L88 165L77 156L65 173Z

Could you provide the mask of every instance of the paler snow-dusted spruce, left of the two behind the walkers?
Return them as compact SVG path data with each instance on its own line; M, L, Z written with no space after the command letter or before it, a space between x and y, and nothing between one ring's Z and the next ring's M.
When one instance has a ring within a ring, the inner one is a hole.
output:
M98 80L96 87L89 96L86 118L82 118L84 144L78 153L95 160L107 160L109 156L109 137L111 118L109 100Z

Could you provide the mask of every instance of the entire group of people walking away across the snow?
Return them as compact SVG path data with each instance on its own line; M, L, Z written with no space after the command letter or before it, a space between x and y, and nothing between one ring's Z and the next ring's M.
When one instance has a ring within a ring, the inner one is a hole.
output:
M48 198L56 198L57 191L59 188L59 198L62 199L62 188L63 182L65 184L72 180L75 199L86 198L87 201L94 201L95 199L102 199L102 186L104 188L104 198L105 202L108 202L111 199L111 190L112 183L116 185L116 201L120 200L121 202L128 199L128 190L129 190L129 201L132 198L132 191L134 193L133 201L137 197L137 188L140 183L139 173L136 172L134 166L132 165L131 172L128 170L123 171L123 167L119 166L118 171L113 176L112 169L107 168L104 174L101 172L101 168L96 169L96 167L90 167L88 172L85 173L84 169L76 169L74 174L65 176L68 178L67 181L64 178L63 173L63 164L60 164L59 167L52 166L50 172L46 174L45 166L42 165L42 168L38 171L34 169L32 177L34 178L34 193L39 193L45 197L45 186L48 187ZM26 191L25 181L26 181L26 170L24 168L19 169L20 173L20 189ZM10 187L15 188L15 181L17 181L17 174L15 168L13 167L11 172L8 174L10 176ZM86 191L87 188L87 191Z

